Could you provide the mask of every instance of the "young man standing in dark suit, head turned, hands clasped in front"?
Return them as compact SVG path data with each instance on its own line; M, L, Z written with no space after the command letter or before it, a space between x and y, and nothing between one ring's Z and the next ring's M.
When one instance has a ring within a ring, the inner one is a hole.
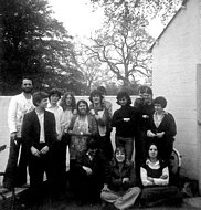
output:
M46 174L50 189L54 175L53 145L56 140L55 117L45 111L49 95L44 92L33 94L35 109L24 115L22 138L28 149L30 175L30 201L38 202L44 197L43 176ZM51 191L52 192L52 191Z

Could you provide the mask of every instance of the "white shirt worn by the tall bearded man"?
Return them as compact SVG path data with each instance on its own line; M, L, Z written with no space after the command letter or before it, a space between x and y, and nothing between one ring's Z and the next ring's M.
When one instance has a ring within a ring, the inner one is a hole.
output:
M23 93L11 98L8 108L8 126L10 133L17 132L17 137L21 137L23 116L33 108L32 97L27 99Z

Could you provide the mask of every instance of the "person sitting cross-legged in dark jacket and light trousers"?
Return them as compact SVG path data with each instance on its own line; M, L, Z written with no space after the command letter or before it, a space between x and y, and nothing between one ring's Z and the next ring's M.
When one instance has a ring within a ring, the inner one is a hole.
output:
M126 161L124 147L117 147L110 167L106 169L102 200L106 202L104 209L127 209L134 206L140 193L137 186L134 162Z

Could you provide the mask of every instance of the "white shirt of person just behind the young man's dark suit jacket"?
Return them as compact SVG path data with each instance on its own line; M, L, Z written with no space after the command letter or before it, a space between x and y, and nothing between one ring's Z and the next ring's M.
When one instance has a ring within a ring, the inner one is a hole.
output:
M54 114L54 117L55 117L55 122L56 122L56 134L61 134L62 132L62 115L63 115L63 108L59 105L56 106L51 106L51 104L49 104L46 111L51 112Z

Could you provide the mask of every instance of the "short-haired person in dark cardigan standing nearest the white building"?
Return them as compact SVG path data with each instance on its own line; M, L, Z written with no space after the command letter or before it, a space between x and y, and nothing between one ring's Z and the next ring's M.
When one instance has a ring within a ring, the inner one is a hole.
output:
M165 111L166 106L165 97L159 96L154 99L155 113L147 124L147 144L156 143L160 157L169 164L177 127L173 116Z

